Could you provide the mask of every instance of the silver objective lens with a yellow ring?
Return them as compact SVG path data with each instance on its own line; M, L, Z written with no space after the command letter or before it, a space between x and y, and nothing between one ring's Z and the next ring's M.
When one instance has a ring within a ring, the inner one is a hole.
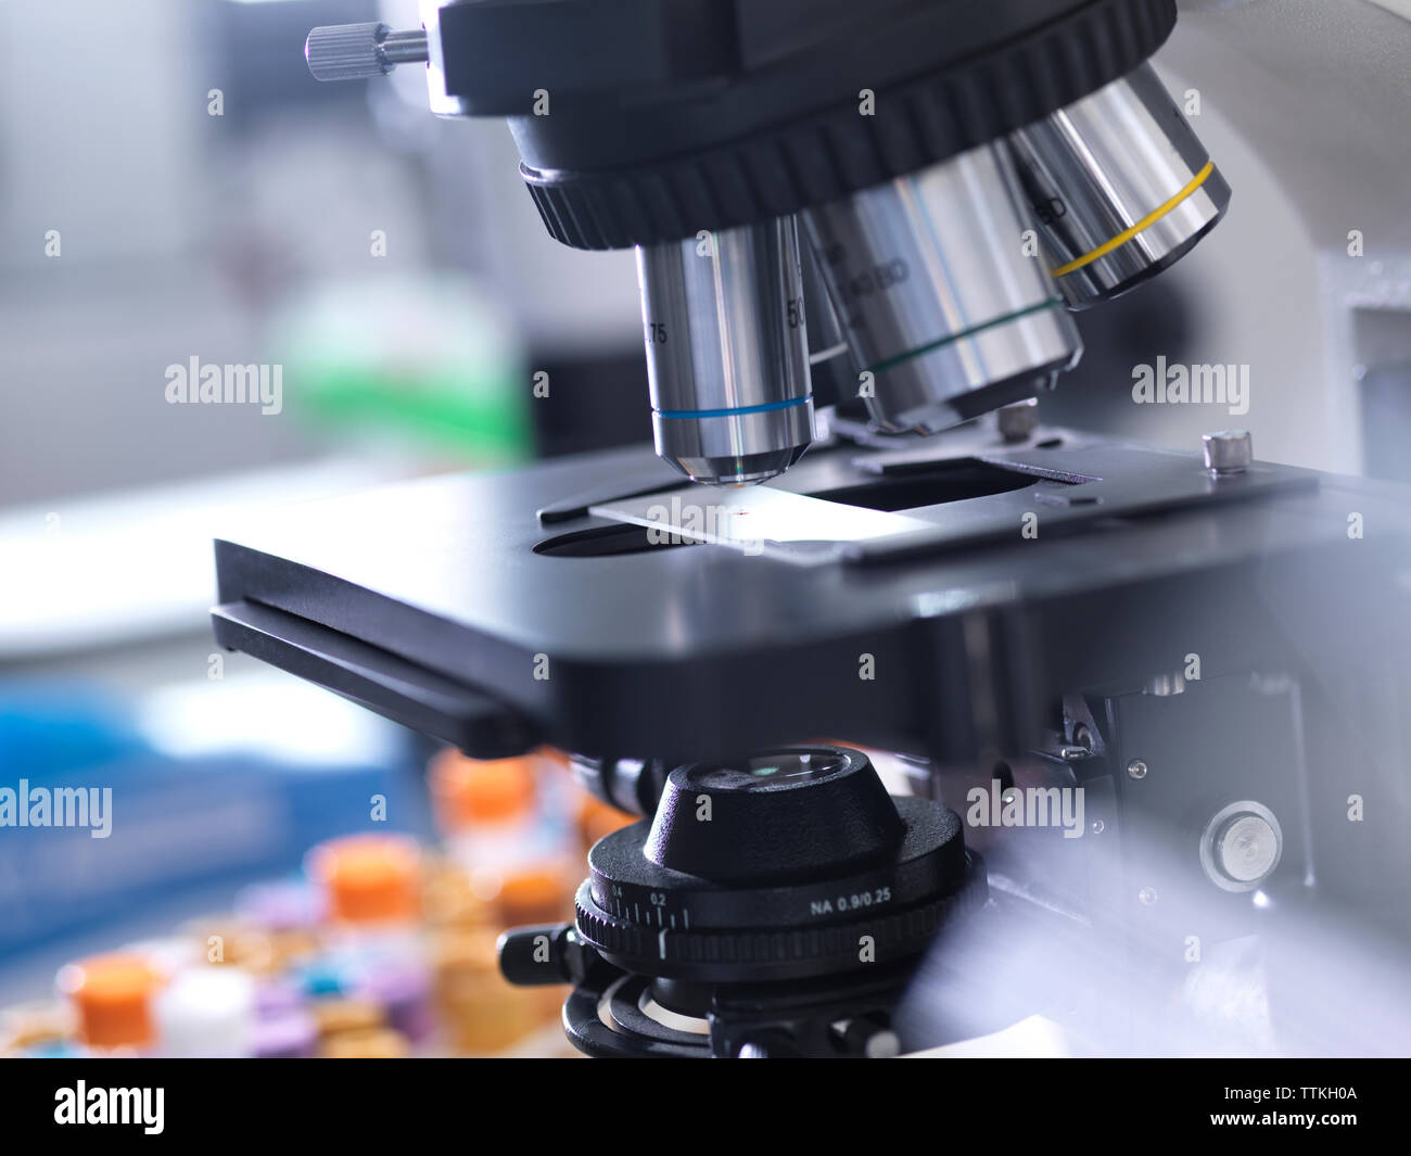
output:
M1229 205L1229 185L1150 65L1009 140L1072 308L1174 264Z

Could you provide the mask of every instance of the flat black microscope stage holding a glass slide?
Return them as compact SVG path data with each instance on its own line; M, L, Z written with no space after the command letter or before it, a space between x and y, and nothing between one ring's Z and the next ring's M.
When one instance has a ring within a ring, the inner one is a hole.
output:
M1404 630L1379 607L1411 528L1373 483L1053 431L904 445L768 487L677 484L641 447L292 507L217 541L216 637L483 757L965 758L976 717L1031 727L1055 687L1192 651L1356 662Z

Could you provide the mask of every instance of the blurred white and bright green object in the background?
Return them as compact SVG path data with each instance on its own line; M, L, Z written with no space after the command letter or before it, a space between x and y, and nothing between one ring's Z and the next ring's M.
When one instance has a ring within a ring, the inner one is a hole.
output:
M532 381L514 322L466 278L330 285L278 329L288 405L327 432L476 464L532 454Z

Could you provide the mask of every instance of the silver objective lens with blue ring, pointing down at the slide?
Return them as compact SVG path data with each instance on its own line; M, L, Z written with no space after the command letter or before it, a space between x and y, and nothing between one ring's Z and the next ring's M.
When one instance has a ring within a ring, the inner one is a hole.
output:
M636 250L656 452L693 481L748 486L813 440L793 217Z

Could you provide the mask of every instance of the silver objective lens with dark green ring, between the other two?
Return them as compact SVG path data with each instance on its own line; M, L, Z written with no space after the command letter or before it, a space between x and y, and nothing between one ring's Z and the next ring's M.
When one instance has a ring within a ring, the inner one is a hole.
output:
M1047 388L1082 350L1026 251L1003 145L803 215L873 422L934 433Z

